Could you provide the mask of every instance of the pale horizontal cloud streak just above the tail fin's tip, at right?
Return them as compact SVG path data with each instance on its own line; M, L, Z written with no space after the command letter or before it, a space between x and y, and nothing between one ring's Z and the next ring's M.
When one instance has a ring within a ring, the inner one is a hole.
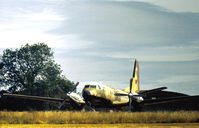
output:
M137 58L140 61L194 61L199 60L198 47L156 47L139 48L137 51L112 52L112 58ZM144 52L142 52L144 51ZM186 52L185 52L186 51Z

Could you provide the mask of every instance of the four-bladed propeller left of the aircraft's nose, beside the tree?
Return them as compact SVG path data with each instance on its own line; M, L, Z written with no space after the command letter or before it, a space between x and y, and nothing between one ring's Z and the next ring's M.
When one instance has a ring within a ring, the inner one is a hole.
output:
M75 89L77 88L78 85L79 85L79 82L77 82L77 83L75 84L75 86L72 88L71 91L69 91L69 92L66 93L66 97L64 98L64 100L62 101L62 103L58 106L59 109L64 105L64 103L66 102L66 100L67 100L68 98L69 98L70 100L72 100L76 105L78 105L78 106L81 105L80 103L78 103L78 102L76 102L75 100L73 100L73 99L70 97L70 95L69 95L71 92L75 91ZM57 86L57 88L58 88L61 92L64 93L64 91L63 91L59 86Z

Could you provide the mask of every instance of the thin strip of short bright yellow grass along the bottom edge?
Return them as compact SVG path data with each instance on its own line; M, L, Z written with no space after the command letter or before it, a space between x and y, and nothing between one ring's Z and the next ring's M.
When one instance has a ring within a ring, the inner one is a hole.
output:
M0 128L198 128L197 123L180 124L1 124Z

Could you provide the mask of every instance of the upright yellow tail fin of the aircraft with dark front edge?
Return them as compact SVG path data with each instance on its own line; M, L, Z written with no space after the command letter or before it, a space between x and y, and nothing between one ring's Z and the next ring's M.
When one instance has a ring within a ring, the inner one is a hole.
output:
M139 63L137 60L135 60L134 63L134 69L133 69L133 78L130 79L132 83L132 92L139 92L140 91L140 81L139 81ZM125 92L129 93L130 92L130 87L127 87L124 89Z

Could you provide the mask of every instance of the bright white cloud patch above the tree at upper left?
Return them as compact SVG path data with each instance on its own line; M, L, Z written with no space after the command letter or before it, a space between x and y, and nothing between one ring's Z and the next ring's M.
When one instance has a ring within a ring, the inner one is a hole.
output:
M46 31L66 21L67 16L54 10L54 0L49 1L12 1L0 2L0 48L18 48L26 43L45 42L54 49L79 49L91 44L80 40L78 35L53 35ZM10 7L12 5L12 7ZM35 7L37 5L37 10ZM73 42L73 43L71 43Z

